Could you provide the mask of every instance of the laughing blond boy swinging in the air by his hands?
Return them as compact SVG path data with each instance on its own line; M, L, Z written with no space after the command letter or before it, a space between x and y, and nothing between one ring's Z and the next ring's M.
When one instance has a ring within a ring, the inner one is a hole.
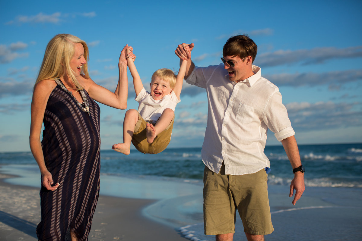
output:
M133 77L135 100L139 102L138 111L129 109L126 112L123 143L113 145L112 149L129 155L132 142L140 152L157 154L165 150L171 140L174 109L180 102L187 60L182 61L177 77L171 69L159 69L153 73L149 93L144 89L134 60L130 57L132 51L132 47L128 47L126 56Z

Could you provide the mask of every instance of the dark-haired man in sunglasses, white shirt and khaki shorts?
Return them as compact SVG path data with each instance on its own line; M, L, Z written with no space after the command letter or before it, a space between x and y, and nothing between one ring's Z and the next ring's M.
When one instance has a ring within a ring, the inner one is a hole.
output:
M278 87L261 77L261 69L252 64L257 54L252 39L247 35L228 39L222 64L215 66L195 66L193 48L194 44L183 43L175 53L188 60L186 82L205 88L208 97L201 151L205 234L216 234L217 241L232 240L238 211L247 239L262 241L274 231L267 187L270 162L264 154L266 135L268 129L275 133L290 160L294 178L289 197L295 189L295 205L305 189L295 132Z

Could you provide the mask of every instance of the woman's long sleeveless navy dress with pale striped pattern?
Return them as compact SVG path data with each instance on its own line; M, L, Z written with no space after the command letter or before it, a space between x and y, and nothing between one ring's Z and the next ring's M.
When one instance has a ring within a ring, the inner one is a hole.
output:
M80 104L60 80L49 96L42 148L54 183L40 190L39 240L88 240L100 186L100 108L87 91ZM88 108L87 108L88 107Z

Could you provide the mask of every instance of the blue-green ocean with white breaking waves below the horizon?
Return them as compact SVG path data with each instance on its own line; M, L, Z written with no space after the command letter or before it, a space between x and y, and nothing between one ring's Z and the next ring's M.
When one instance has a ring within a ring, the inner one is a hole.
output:
M267 146L264 152L271 163L268 184L290 185L293 173L283 147ZM299 145L299 152L306 168L306 186L362 188L362 143ZM37 168L31 152L1 152L0 164ZM136 150L131 150L130 155L113 150L101 151L102 175L168 177L202 182L203 169L201 147L167 148L155 155Z

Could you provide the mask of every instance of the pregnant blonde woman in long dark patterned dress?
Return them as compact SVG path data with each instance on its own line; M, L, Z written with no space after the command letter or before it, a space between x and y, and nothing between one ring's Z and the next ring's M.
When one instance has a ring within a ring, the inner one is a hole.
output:
M39 240L88 240L100 186L100 108L94 100L127 108L127 47L111 92L90 79L83 40L59 34L47 45L30 124L30 149L41 172Z

